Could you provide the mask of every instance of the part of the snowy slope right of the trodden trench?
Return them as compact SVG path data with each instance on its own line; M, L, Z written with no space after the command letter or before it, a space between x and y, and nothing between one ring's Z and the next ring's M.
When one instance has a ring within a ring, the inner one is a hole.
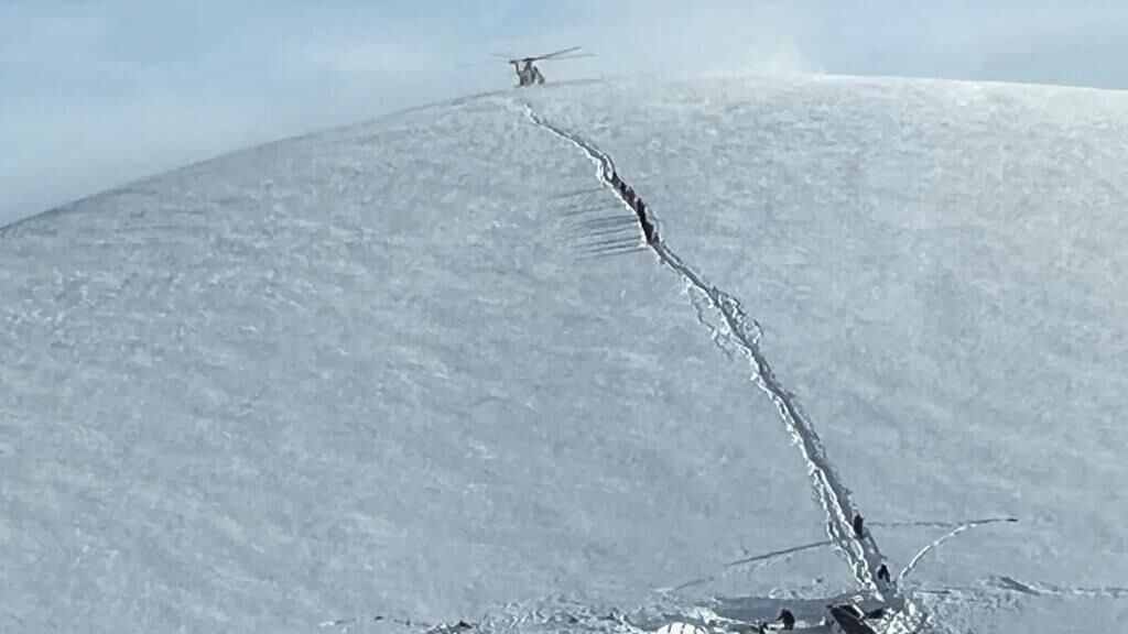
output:
M535 107L613 156L671 248L743 298L861 508L1023 519L948 547L931 580L1125 595L1128 96L890 79L581 93ZM920 539L878 530L902 562Z

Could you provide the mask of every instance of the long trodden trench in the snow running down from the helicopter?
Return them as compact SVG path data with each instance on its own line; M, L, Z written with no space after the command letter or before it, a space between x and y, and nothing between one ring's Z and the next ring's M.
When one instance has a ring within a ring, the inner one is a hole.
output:
M613 185L613 175L616 174L616 170L610 156L578 134L545 121L529 104L525 104L525 114L535 125L582 150L596 165L596 177L599 182L610 190L623 204L631 208L623 197L623 194ZM642 231L641 224L640 231ZM690 293L696 293L704 299L705 306L695 303L698 308L698 319L710 327L714 341L720 343L728 340L735 345L737 351L748 361L752 371L751 378L754 382L775 404L781 420L787 428L787 432L802 451L803 460L807 464L808 474L811 478L812 491L827 517L827 536L835 548L846 557L854 579L867 590L880 593L884 589L892 590L896 593L896 585L888 584L889 587L887 588L879 588L875 574L878 567L884 561L881 549L874 541L872 534L866 532L862 538L858 538L854 534L852 519L856 513L856 508L854 507L851 491L841 482L834 465L827 458L822 441L819 439L819 434L814 431L814 426L810 420L808 420L800 408L795 395L779 382L767 358L760 350L759 340L761 328L759 324L749 319L735 298L708 284L699 273L682 262L666 245L659 231L655 230L652 239L647 240L646 244L663 264L681 276L687 283ZM707 310L712 310L714 317L719 318L721 328L708 322L706 317ZM882 583L882 585L887 584Z

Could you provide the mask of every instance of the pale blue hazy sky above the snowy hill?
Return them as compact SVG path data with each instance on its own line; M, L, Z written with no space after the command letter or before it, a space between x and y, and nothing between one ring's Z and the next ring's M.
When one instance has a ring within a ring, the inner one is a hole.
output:
M0 222L223 151L549 79L830 72L1128 89L1102 0L0 0Z

